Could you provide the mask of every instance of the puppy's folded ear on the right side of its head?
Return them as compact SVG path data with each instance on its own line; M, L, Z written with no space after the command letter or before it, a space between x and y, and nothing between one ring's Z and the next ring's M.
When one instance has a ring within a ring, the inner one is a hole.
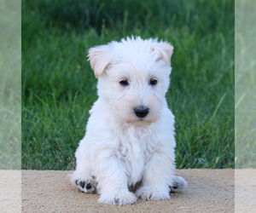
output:
M171 65L171 57L173 53L173 46L171 43L154 43L151 47L151 50L159 52L160 56L158 57L157 60L164 60L168 65Z

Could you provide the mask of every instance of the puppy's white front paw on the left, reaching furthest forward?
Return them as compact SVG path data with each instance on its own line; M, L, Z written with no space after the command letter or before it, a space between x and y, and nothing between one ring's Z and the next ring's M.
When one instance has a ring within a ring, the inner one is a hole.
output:
M136 203L137 198L134 193L128 190L119 191L118 193L102 193L99 203L103 204L119 204L119 205L129 205Z

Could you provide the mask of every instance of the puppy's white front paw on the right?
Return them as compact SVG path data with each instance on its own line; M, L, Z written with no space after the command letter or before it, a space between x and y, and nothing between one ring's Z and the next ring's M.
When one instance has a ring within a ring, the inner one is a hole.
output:
M138 199L143 200L162 200L170 199L170 194L167 190L160 191L153 189L151 187L141 187L136 191L136 196Z

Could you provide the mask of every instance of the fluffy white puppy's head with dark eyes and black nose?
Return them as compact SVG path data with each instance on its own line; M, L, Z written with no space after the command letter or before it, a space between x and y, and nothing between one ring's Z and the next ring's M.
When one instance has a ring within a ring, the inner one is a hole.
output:
M117 118L140 127L160 118L166 105L172 51L170 43L141 37L127 37L89 50L98 95Z

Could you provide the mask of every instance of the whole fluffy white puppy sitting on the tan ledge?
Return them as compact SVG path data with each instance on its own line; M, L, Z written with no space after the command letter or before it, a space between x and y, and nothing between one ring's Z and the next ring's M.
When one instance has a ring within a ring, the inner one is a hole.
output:
M100 203L170 199L171 190L187 186L174 176L174 116L165 98L172 50L141 37L89 50L99 98L71 181L84 193L100 193Z

